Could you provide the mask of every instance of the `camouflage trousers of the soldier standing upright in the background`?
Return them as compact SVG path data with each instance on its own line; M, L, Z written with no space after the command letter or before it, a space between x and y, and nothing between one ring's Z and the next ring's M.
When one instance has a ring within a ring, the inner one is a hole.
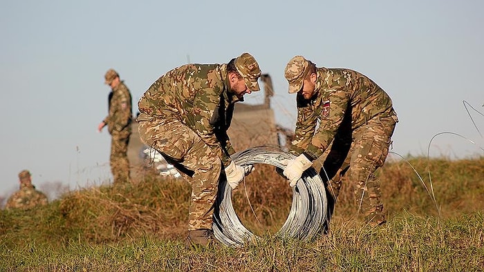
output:
M128 132L116 132L111 135L111 156L109 157L109 164L111 165L114 184L129 182L128 144Z

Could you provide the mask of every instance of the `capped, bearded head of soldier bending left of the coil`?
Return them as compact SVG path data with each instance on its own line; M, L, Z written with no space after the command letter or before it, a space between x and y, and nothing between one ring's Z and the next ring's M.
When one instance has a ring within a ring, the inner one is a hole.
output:
M230 60L227 64L227 72L230 90L239 99L243 99L243 95L246 93L250 94L261 90L257 81L261 77L261 69L249 53L245 52Z

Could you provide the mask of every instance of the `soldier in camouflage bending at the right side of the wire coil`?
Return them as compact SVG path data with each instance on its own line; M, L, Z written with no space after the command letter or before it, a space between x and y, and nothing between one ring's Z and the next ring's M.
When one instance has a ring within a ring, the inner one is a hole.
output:
M380 181L375 171L387 158L398 122L389 95L360 72L317 68L301 56L290 59L285 77L289 93L297 93L291 151L299 157L288 162L284 171L290 185L294 186L332 143L320 175L331 179L333 201L345 175L353 184L358 211L370 224L383 224ZM333 212L332 208L329 212Z

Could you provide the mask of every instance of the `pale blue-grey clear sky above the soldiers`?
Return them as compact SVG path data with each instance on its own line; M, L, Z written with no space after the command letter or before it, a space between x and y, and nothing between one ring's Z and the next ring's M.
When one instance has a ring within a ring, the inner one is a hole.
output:
M34 184L72 189L109 178L104 72L133 108L160 75L250 52L268 72L276 120L294 128L283 70L295 55L353 68L393 99L393 152L484 155L463 101L484 112L483 1L0 1L0 195L28 168ZM254 93L246 103L259 103ZM484 133L484 117L470 110ZM476 142L470 144L469 139Z

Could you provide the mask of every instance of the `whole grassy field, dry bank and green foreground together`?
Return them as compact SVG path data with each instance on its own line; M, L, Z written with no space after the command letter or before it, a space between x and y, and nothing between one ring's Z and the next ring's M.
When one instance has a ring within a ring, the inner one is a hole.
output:
M409 164L378 173L387 224L364 224L344 183L331 233L313 241L274 236L292 191L256 165L233 193L237 215L261 239L238 249L185 246L182 180L146 173L126 186L72 191L35 211L1 211L0 271L483 271L484 158Z

